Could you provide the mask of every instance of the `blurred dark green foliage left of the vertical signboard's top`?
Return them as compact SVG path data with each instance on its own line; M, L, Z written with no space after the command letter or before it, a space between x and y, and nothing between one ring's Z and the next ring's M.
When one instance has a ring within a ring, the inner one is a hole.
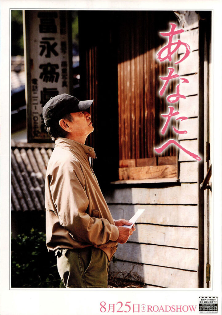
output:
M12 10L12 56L24 55L23 48L23 25L22 25L22 10Z

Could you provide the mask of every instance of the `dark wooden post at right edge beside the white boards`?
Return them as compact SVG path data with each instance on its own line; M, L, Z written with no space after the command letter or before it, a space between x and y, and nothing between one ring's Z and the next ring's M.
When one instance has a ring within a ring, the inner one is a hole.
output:
M204 14L204 16L202 16ZM206 163L206 152L204 150L206 141L209 141L209 51L211 34L211 12L200 14L199 20L199 136L198 152L202 161L198 163L198 186L202 183L209 166ZM199 232L199 266L198 286L206 287L206 262L209 263L209 202L207 192L198 190L198 232ZM205 201L206 200L206 201ZM206 216L206 219L205 219Z

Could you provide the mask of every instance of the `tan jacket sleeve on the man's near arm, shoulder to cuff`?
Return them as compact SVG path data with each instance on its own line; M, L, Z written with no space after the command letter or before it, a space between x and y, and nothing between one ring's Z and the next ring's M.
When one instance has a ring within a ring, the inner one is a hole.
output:
M78 163L69 161L56 167L52 174L50 191L61 226L76 241L98 246L117 240L119 230L115 225L87 213L89 199L85 191L85 178Z

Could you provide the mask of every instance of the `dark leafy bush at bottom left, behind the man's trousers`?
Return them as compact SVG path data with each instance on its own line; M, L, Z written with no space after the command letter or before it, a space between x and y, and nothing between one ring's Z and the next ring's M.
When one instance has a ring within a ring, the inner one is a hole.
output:
M11 287L64 287L54 253L48 253L44 232L32 229L11 240Z

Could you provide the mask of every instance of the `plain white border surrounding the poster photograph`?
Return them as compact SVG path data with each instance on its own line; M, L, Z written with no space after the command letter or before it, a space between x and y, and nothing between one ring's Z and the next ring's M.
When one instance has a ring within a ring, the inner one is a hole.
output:
M9 289L10 199L10 9L213 9L213 289ZM197 305L199 296L218 296L221 314L221 1L1 0L1 157L0 157L0 313L1 315L102 314L100 302L145 305ZM107 312L105 312L107 313ZM114 312L116 313L116 312ZM132 313L132 310L129 314ZM138 313L138 312L135 312ZM175 312L176 313L176 312ZM190 314L191 312L186 312ZM171 314L171 312L168 312Z

